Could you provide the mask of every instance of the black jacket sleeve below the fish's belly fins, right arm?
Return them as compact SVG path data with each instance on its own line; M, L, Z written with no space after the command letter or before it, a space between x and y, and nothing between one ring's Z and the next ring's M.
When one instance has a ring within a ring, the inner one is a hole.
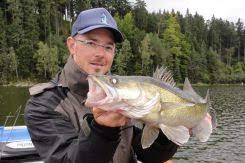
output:
M162 132L159 132L158 138L149 148L143 149L141 135L142 130L134 127L133 150L137 155L137 159L144 163L163 163L171 159L177 152L178 145L168 140Z

